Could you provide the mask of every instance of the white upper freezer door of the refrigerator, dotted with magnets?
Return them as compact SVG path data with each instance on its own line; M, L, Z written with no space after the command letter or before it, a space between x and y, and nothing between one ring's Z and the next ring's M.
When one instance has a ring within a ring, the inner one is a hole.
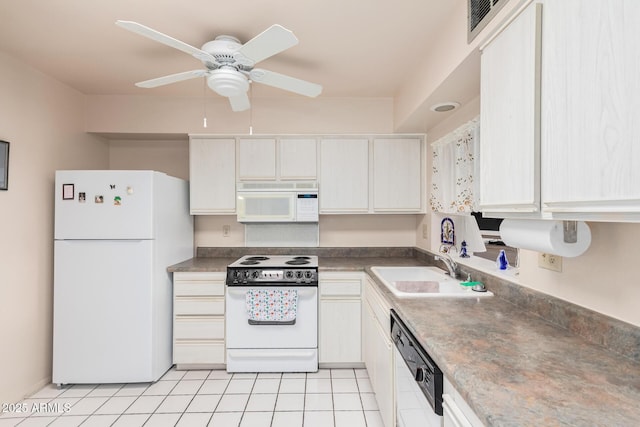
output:
M57 171L55 238L152 239L154 174Z

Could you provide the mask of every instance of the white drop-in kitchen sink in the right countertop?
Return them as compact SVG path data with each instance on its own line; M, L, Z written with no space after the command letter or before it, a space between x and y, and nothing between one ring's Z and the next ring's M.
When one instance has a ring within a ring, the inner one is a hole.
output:
M476 292L462 286L438 267L372 267L371 271L399 297L486 297L493 293Z

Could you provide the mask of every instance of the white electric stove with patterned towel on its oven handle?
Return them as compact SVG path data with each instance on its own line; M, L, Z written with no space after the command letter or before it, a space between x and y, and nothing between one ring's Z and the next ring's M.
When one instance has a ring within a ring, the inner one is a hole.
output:
M226 284L227 371L318 370L317 256L244 256Z

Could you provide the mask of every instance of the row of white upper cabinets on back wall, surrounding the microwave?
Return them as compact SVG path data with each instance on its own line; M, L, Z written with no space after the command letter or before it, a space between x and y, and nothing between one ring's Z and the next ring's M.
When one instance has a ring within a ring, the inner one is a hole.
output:
M191 135L192 214L234 214L237 181L318 181L321 214L424 212L424 135Z

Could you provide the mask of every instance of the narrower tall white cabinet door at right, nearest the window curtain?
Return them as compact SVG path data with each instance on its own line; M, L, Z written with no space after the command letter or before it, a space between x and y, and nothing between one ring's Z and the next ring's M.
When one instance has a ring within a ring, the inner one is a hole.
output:
M531 4L482 51L483 212L540 210L540 18L541 5Z

